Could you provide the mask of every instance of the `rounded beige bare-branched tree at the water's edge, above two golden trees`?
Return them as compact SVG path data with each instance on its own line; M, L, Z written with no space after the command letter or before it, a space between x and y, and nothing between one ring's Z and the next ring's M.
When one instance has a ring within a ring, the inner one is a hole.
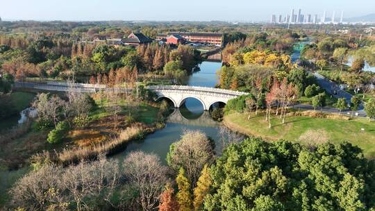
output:
M181 167L192 182L192 189L205 164L213 162L214 151L208 137L199 130L185 131L181 140L174 143L167 155L167 162L174 171Z

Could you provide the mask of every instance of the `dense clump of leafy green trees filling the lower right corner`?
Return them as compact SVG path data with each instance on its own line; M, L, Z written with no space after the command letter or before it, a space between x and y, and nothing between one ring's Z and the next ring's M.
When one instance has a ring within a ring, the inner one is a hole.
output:
M371 210L375 166L357 146L256 138L232 144L210 167L204 210ZM369 186L367 186L369 185Z

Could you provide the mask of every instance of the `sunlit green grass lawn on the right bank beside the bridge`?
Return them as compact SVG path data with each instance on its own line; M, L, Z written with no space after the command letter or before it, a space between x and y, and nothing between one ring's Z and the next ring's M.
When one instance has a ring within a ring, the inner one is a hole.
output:
M247 135L263 137L265 140L290 140L298 142L301 134L309 129L323 129L330 136L333 143L343 141L359 146L367 158L375 158L375 122L358 118L352 120L321 119L313 117L286 117L285 124L281 119L272 116L272 128L268 128L265 115L232 113L224 117L224 124L233 130ZM362 133L361 128L365 128Z

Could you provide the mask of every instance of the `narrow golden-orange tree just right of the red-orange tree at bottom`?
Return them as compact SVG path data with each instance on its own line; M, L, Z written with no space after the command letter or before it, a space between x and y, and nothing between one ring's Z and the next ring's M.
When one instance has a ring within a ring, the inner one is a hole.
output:
M180 211L192 211L192 194L190 192L190 181L185 176L185 170L183 168L178 171L178 176L176 178L176 183L178 187L178 193L176 199L178 205L180 205Z

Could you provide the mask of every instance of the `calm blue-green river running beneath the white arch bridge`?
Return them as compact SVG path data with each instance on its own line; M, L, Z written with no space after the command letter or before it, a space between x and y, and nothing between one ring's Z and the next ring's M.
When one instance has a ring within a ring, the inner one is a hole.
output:
M204 61L199 67L200 71L195 71L188 78L187 84L215 87L218 81L216 72L222 67L222 63ZM221 151L222 142L219 135L219 124L210 118L208 112L203 112L203 105L197 99L187 99L185 105L168 118L165 128L147 135L144 140L131 142L126 147L126 150L115 155L115 158L122 160L130 151L144 151L146 153L156 153L165 164L169 146L178 141L185 130L201 130L215 140L216 151L218 153Z

